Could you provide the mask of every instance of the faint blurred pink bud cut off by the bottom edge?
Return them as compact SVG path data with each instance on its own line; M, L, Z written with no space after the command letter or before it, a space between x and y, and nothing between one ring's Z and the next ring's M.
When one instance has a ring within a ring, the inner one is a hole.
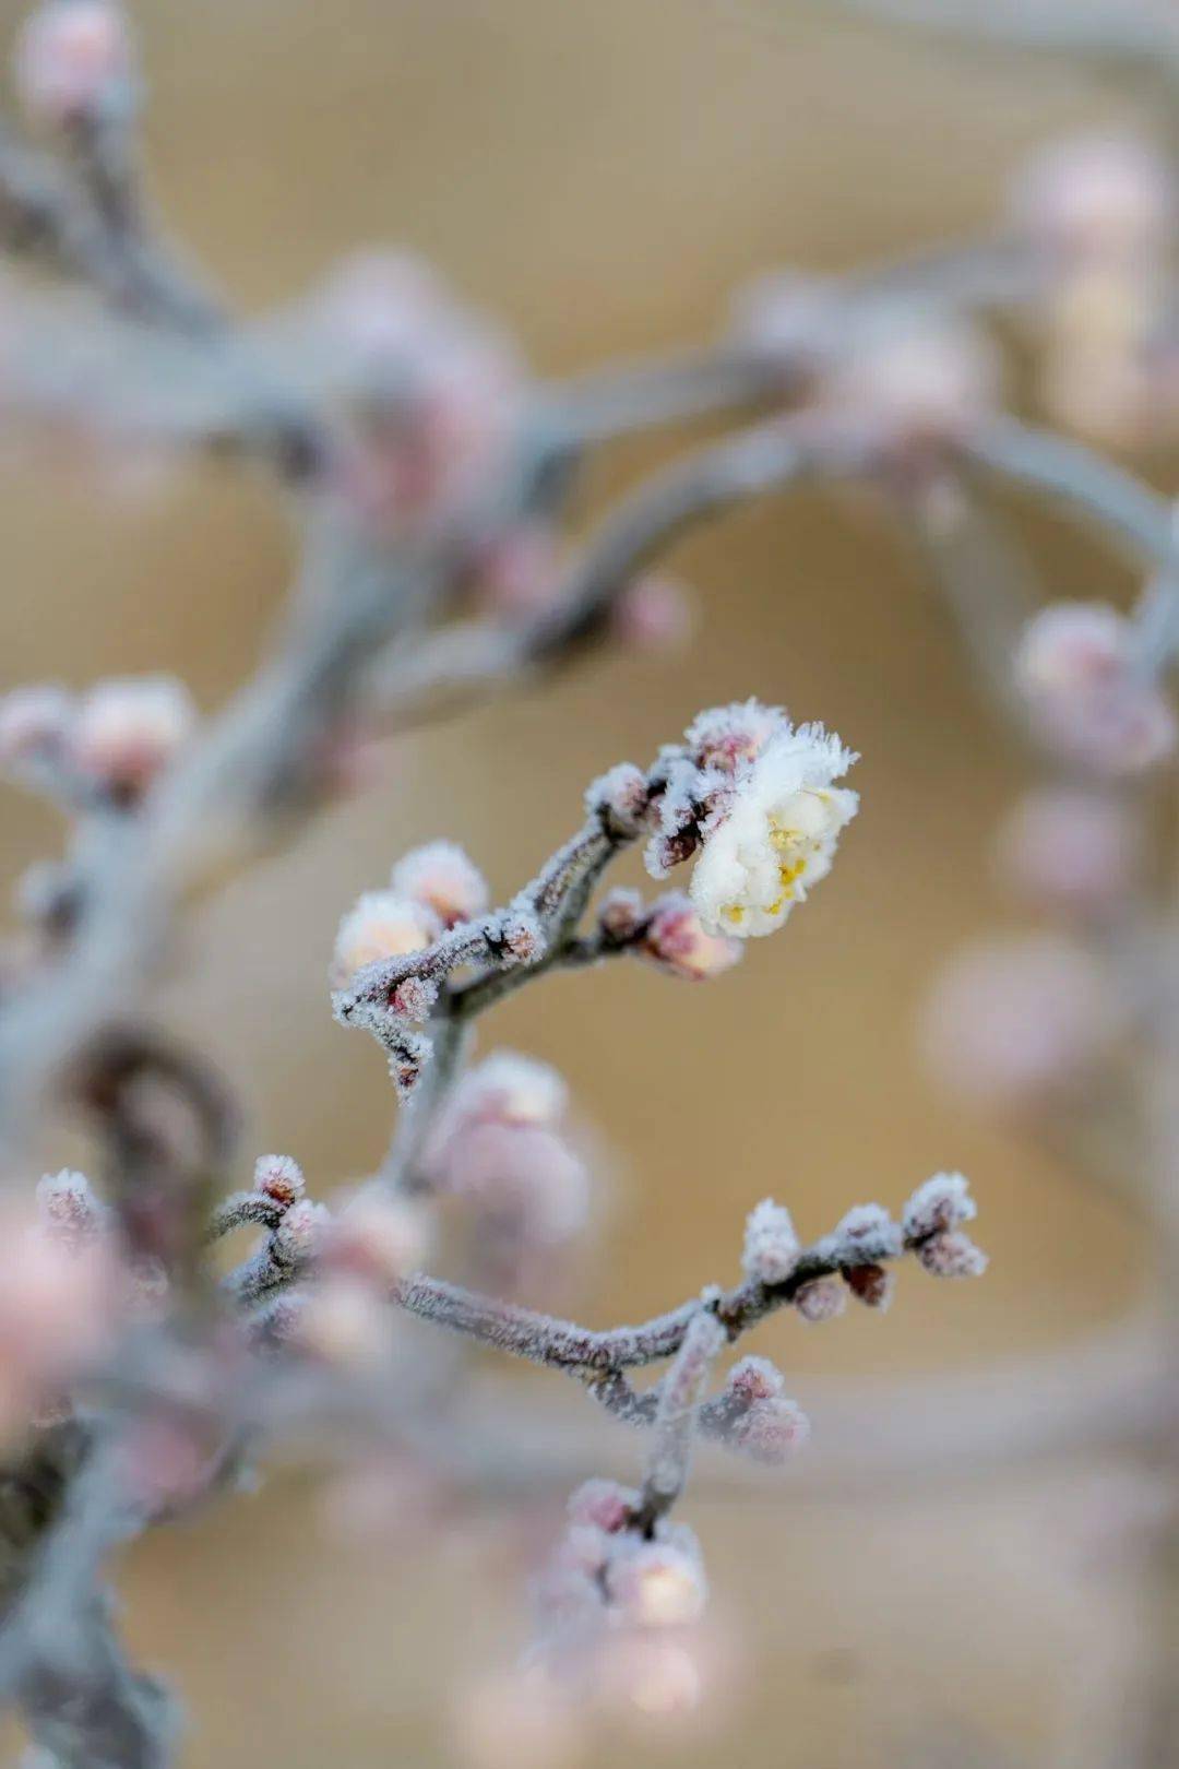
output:
M484 1677L454 1705L454 1748L465 1769L571 1769L582 1728L541 1666Z

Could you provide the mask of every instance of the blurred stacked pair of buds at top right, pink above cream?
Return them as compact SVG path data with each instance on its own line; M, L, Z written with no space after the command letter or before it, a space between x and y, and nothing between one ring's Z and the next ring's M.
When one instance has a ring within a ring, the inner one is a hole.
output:
M1156 334L1175 237L1175 188L1151 143L1059 142L1023 173L1016 228L1041 269L1041 394L1062 423L1138 446L1170 421Z

